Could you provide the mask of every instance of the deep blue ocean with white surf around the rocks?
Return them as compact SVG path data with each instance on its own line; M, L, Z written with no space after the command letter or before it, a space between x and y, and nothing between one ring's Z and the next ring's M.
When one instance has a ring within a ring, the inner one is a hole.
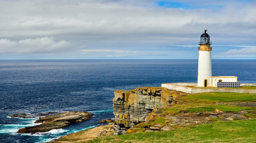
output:
M0 60L0 143L40 143L114 118L113 92L170 82L197 82L197 59ZM212 60L212 76L256 83L256 60ZM90 111L88 121L41 134L17 134L36 119L14 113Z

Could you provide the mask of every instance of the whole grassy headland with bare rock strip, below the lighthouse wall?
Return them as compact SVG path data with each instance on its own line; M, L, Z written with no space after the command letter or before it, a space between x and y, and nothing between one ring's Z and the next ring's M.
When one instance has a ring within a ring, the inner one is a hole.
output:
M256 94L198 93L150 113L129 134L77 143L255 143ZM168 128L154 132L150 129ZM146 131L146 132L145 132ZM68 136L64 137L69 139ZM63 138L63 139L64 139ZM59 140L61 143L61 139ZM63 140L64 141L64 140ZM64 142L63 142L64 143Z

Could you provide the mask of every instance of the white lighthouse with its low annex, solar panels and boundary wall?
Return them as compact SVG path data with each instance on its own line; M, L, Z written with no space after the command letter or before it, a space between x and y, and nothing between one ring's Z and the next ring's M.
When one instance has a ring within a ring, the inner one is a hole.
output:
M185 93L203 93L203 92L223 92L222 90L215 90L215 88L239 88L240 82L237 82L237 76L212 76L212 42L210 42L210 35L204 33L200 37L200 46L198 47L198 73L197 83L169 83L162 84L162 87L172 90L178 90ZM215 73L216 74L216 73ZM191 88L185 86L195 87L211 87L210 90L201 88Z

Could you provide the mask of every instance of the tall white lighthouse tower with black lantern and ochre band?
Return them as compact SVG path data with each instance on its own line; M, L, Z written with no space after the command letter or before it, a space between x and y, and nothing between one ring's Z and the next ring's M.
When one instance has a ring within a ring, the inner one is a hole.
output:
M200 42L198 43L198 75L197 75L197 86L208 87L212 86L212 47L210 45L210 36L206 33L201 35Z

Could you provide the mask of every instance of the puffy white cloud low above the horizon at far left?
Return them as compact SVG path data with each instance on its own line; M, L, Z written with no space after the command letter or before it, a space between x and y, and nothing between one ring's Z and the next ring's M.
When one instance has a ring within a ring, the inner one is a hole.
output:
M54 41L52 37L24 39L11 41L0 39L0 53L51 53L67 50L71 43L61 40Z

